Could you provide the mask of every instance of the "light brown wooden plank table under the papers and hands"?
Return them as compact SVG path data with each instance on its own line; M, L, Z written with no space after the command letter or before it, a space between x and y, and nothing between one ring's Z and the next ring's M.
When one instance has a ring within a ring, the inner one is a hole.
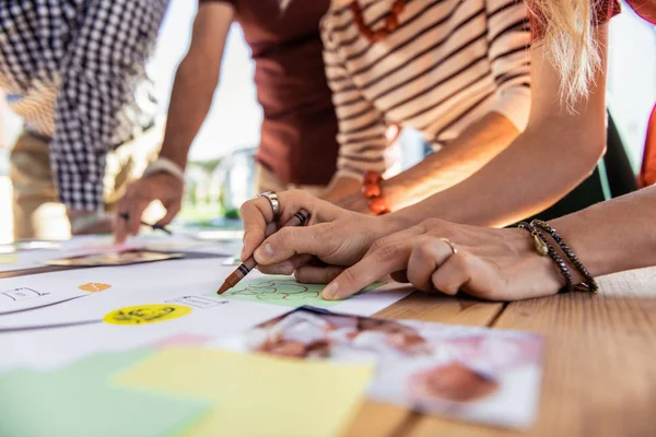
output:
M55 270L0 273L0 279ZM511 304L414 293L377 314L543 334L540 409L530 429L471 425L364 402L344 436L656 436L656 268L601 277L599 284L598 295Z

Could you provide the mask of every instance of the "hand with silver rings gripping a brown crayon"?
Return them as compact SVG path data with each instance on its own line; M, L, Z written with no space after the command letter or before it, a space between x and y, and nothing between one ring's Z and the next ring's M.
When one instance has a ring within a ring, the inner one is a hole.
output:
M242 260L255 255L259 270L265 273L295 272L301 282L335 277L345 265L358 262L374 240L400 227L391 216L367 217L303 191L281 192L278 197L281 224L302 208L311 213L311 218L304 227L278 231L280 226L271 223L273 212L266 198L242 205L245 231ZM314 257L328 265L309 264Z

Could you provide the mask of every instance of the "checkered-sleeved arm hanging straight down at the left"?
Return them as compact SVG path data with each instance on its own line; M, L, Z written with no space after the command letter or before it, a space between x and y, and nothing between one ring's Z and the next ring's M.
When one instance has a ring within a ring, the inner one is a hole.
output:
M86 3L61 66L50 141L59 197L69 215L103 209L105 161L117 117L132 98L133 79L142 71L166 9L165 1Z

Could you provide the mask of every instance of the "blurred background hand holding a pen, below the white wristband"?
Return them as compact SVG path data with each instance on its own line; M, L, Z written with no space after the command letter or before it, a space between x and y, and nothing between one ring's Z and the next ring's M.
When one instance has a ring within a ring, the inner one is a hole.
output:
M180 211L183 204L183 182L168 173L155 173L128 186L126 196L118 202L114 222L116 244L122 244L128 235L137 235L141 226L141 214L151 202L159 200L166 209L166 215L155 225L165 226ZM125 220L121 214L128 214Z

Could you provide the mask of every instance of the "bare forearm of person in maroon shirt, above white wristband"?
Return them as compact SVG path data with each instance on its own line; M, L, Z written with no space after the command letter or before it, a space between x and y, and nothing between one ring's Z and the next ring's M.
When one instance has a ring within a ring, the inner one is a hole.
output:
M173 84L160 156L181 168L187 165L194 138L210 110L219 80L219 71L208 67L202 57L190 54L180 63Z

